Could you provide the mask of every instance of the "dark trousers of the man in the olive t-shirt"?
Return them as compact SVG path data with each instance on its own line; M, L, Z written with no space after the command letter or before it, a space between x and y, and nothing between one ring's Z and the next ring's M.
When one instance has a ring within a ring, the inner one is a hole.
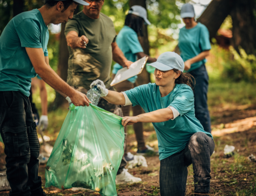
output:
M71 86L71 87L83 94L87 94L87 92L88 92L88 90L84 89L82 86ZM110 87L109 90L115 91L115 89L113 87ZM117 116L123 117L123 113L122 113L120 105L115 105L115 104L109 103L102 97L99 99L99 103L97 106L104 109L105 111L112 112ZM126 134L125 134L124 146L123 146L124 151L125 151L125 146L126 146ZM127 161L124 159L124 156L123 156L120 166L119 166L119 169L117 171L117 175L119 175L123 171L123 169L125 168L126 165L127 165Z

